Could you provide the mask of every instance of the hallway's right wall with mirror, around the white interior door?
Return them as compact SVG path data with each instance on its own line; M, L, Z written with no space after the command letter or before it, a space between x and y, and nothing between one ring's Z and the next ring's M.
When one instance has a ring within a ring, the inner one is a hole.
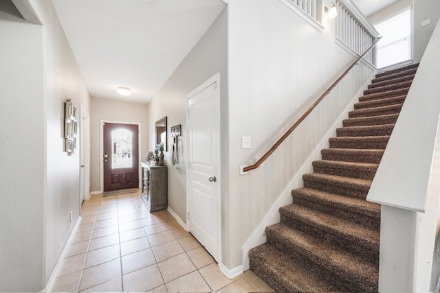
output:
M186 129L186 95L211 78L220 73L221 94L221 137L222 150L227 145L227 127L225 113L227 113L228 73L227 73L227 9L219 17L192 48L188 56L166 81L159 93L148 104L148 118L150 150L155 147L155 121L164 116L168 117L168 152L165 152L165 164L168 165L168 206L177 213L179 218L186 222L186 158L184 150L188 130ZM180 167L172 163L173 141L170 139L170 127L181 124L182 137L179 143ZM225 174L227 154L222 152L222 174ZM225 177L225 176L224 176ZM223 181L222 189L227 186ZM223 193L222 193L223 194ZM222 196L223 200L223 196Z

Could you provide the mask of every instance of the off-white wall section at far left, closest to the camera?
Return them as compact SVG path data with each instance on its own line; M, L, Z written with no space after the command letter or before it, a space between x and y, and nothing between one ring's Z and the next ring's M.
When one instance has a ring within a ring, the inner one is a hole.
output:
M43 285L43 28L0 1L0 289Z

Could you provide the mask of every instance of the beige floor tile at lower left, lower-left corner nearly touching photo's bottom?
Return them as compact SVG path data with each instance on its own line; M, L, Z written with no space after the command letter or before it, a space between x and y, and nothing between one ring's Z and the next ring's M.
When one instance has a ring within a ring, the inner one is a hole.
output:
M87 268L83 272L80 291L92 288L101 283L121 277L120 259Z

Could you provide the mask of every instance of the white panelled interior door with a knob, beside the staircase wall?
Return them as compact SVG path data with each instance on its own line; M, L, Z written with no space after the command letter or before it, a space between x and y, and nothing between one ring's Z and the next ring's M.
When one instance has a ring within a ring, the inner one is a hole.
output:
M188 224L206 250L221 251L219 75L188 95Z

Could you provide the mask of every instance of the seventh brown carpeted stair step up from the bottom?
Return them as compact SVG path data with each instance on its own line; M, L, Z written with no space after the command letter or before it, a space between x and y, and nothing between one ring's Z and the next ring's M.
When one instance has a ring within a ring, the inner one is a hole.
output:
M384 150L353 150L329 148L321 150L322 160L378 164Z

